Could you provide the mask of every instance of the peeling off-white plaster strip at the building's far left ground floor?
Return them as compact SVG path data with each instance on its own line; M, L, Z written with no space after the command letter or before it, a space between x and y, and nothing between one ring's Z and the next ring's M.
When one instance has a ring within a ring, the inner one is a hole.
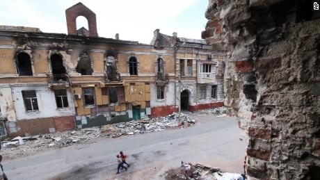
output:
M11 88L0 88L0 108L2 117L8 121L16 120Z

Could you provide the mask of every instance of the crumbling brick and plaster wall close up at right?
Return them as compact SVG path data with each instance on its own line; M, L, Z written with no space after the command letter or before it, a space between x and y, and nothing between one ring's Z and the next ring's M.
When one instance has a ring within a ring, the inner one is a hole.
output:
M314 1L210 0L202 38L227 54L225 104L250 179L320 179L320 11Z

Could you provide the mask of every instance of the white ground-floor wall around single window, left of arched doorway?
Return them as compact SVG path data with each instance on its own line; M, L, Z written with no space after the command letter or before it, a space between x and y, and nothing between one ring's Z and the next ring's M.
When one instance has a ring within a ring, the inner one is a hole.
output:
M157 99L157 85L150 83L151 99L150 106L173 106L175 105L175 83L167 83L164 88L164 99Z

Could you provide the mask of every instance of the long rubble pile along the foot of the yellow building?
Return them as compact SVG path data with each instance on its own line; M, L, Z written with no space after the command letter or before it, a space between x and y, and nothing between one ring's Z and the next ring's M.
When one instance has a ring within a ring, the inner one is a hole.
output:
M33 152L48 148L67 147L72 144L94 142L96 138L118 138L120 136L165 131L166 129L186 128L195 124L189 115L173 113L166 117L156 117L150 120L132 120L117 124L104 125L101 128L86 128L76 131L64 131L45 135L16 137L1 142L3 155L6 158L18 158Z

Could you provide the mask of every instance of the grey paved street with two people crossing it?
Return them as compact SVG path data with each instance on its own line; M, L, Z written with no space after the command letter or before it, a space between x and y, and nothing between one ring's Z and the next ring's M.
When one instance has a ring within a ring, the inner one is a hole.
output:
M72 145L3 163L9 179L163 179L181 160L243 172L245 140L234 117L193 114L199 122L189 129L102 139ZM131 164L115 175L115 154L121 150Z

